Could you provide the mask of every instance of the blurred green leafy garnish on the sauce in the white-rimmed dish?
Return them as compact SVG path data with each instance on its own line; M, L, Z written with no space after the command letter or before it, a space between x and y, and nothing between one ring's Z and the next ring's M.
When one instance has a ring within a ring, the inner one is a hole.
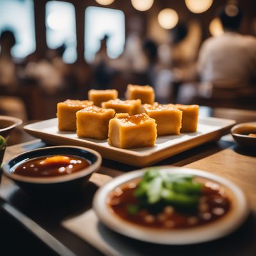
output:
M172 205L186 210L198 205L202 184L195 181L193 175L159 172L149 168L138 184L135 196L141 207L159 208ZM132 211L135 208L132 206Z

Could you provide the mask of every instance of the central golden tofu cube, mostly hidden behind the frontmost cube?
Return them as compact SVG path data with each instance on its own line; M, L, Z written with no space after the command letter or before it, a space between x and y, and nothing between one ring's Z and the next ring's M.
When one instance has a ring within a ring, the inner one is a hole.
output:
M116 113L128 113L129 115L136 115L141 113L141 100L108 100L102 102L102 108L113 108Z

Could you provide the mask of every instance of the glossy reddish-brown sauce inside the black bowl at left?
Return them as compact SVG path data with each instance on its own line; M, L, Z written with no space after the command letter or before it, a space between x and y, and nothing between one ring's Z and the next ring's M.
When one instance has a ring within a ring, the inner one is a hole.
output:
M90 161L82 157L44 156L19 164L13 173L29 177L55 177L78 172L90 165Z

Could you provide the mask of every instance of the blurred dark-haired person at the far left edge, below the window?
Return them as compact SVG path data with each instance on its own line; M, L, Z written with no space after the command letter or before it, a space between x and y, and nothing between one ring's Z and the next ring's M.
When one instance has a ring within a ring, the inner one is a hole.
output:
M17 81L12 48L16 44L13 31L4 30L0 36L0 86L14 87Z

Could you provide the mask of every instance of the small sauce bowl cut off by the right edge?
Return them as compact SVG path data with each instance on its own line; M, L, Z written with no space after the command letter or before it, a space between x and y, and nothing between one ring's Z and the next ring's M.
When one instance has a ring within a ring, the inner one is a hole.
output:
M256 148L256 137L248 134L256 134L256 122L237 124L231 129L231 134L237 143L244 147Z

